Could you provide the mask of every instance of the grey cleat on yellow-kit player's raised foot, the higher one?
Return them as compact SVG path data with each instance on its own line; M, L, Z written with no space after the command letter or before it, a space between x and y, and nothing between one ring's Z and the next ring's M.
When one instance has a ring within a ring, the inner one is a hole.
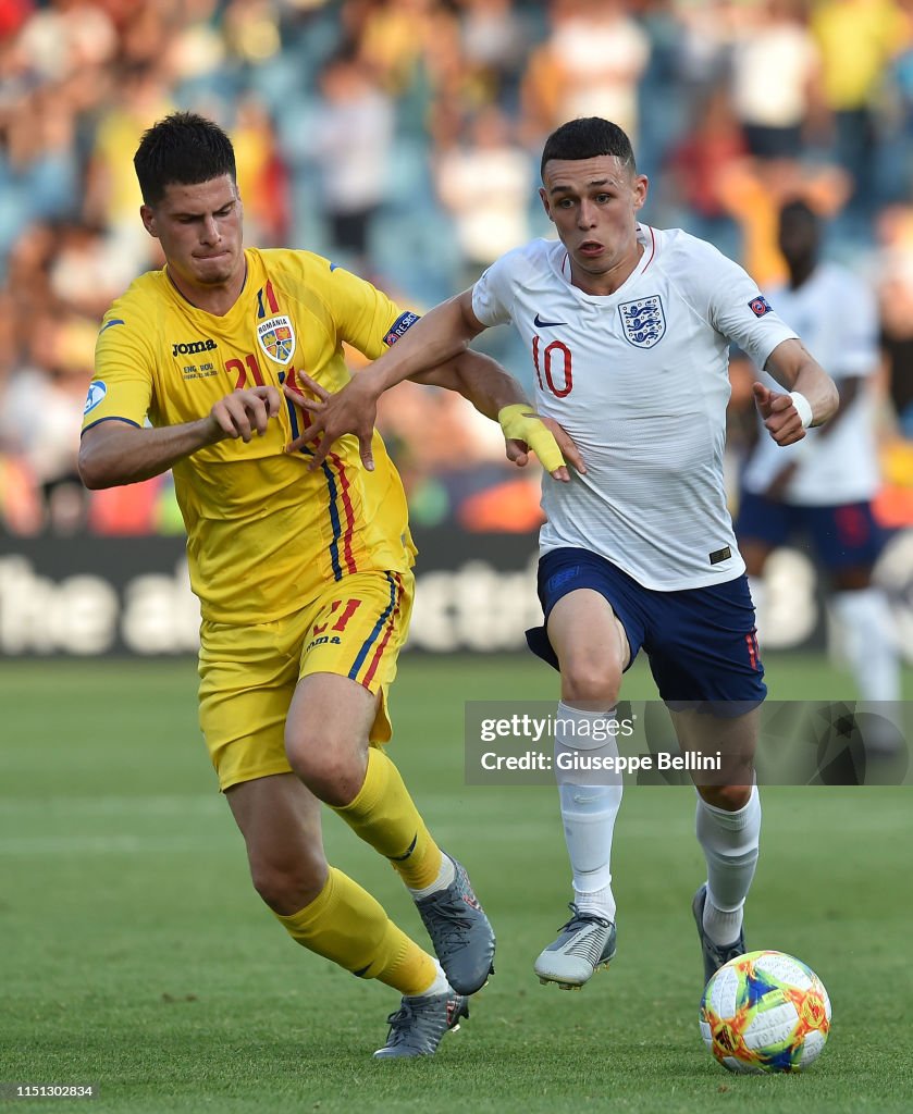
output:
M495 934L473 892L464 868L451 856L453 882L416 908L421 916L447 981L458 994L475 994L494 974Z

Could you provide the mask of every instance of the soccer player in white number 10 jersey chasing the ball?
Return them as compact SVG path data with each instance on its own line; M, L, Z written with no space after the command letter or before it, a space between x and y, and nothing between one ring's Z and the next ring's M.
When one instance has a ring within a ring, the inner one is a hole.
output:
M836 410L833 381L757 285L710 244L641 224L648 182L627 135L571 120L542 156L557 242L508 252L474 287L431 310L342 392L312 403L315 460L354 432L370 460L379 394L511 322L530 353L536 409L563 426L585 469L543 490L538 574L545 626L531 646L561 671L556 749L619 698L643 648L683 752L725 749L726 784L699 785L707 881L693 900L705 980L745 951L742 906L760 805L751 758L766 687L755 612L722 480L730 343L769 371L755 401L778 446ZM484 183L479 184L484 188ZM615 950L610 856L620 785L560 786L572 916L535 962L543 981L582 986Z

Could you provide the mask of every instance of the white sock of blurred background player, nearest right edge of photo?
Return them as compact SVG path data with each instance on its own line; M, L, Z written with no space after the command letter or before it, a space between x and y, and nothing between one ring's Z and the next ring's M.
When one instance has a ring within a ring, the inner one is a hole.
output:
M864 701L899 701L897 634L881 588L836 592L831 597L849 667Z

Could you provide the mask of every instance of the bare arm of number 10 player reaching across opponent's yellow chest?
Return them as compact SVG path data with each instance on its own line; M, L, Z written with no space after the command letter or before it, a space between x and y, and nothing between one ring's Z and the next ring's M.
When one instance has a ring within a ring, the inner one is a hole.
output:
M334 441L346 433L354 433L362 463L372 470L371 438L380 395L404 379L451 360L484 328L473 313L472 290L467 290L429 310L370 368L360 371L328 400L308 400L285 388L289 398L309 410L312 418L301 437L286 446L286 451L297 452L313 442L314 455L308 466L313 471L323 463Z

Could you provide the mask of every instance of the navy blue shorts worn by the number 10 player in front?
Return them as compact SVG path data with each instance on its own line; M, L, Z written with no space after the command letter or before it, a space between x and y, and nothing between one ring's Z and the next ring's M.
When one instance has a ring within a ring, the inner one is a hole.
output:
M706 588L657 592L587 549L553 549L542 557L538 598L546 622L559 599L577 588L592 588L609 600L628 635L628 667L643 647L667 704L740 715L767 695L746 576ZM526 642L534 654L560 667L544 626L527 631ZM713 706L705 706L709 703Z

